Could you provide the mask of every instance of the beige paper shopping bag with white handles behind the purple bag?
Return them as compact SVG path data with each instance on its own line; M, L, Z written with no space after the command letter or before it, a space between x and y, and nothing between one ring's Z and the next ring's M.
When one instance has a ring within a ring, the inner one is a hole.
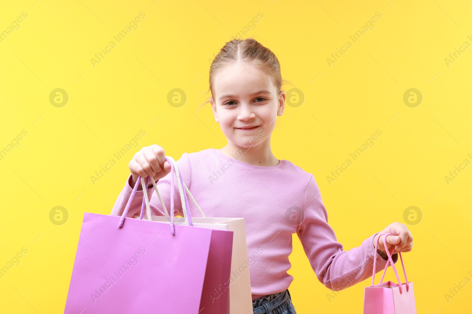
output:
M175 167L177 169L177 167ZM178 172L178 169L177 169ZM182 185L179 182L181 176L177 177L177 187L179 188L179 193L183 196ZM142 181L143 182L143 181ZM152 220L160 223L170 224L169 214L167 212L166 206L160 197L159 190L157 189L154 179L151 178L152 185L154 185L154 190L156 191L162 208L166 216L151 216L151 219L147 215L143 215L143 219ZM144 183L144 182L143 182ZM183 181L182 181L183 183ZM185 184L183 184L185 186ZM143 184L144 186L144 184ZM185 186L185 191L189 198L193 201L195 207L200 212L202 217L192 217L192 224L196 227L207 228L207 229L218 229L218 230L229 230L233 231L233 252L231 255L231 275L228 278L228 281L220 285L219 287L214 288L214 294L206 296L214 300L219 298L223 293L229 292L229 307L228 314L253 314L253 301L251 295L251 281L249 278L249 259L247 255L247 244L246 244L246 231L244 228L244 218L224 218L224 217L205 217L202 212L202 209L198 206L197 202L194 200L194 197ZM147 193L144 193L147 194ZM149 202L147 201L147 195L143 195L145 198L146 213L151 212L149 207ZM181 197L182 199L182 197ZM187 220L187 211L186 211L185 202L182 202L182 211L184 217L174 217L174 224L188 225ZM140 218L140 215L135 215L134 218ZM229 291L228 291L229 289ZM202 296L204 298L205 296Z

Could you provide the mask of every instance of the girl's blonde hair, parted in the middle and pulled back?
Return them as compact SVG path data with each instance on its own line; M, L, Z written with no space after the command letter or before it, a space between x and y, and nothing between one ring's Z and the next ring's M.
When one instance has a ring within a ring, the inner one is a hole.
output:
M280 74L280 63L277 56L269 49L261 45L260 42L254 38L247 39L233 39L228 41L223 48L219 50L218 55L215 56L210 65L210 87L207 93L211 93L211 98L203 103L201 106L210 102L214 97L213 78L215 73L227 66L236 62L243 62L246 64L255 64L259 66L264 72L269 74L272 78L272 83L280 92L282 85L290 83L282 79Z

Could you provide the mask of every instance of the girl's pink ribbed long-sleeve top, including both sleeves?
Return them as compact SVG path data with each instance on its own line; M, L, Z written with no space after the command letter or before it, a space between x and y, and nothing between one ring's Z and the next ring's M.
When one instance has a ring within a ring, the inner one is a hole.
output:
M184 153L177 161L185 184L206 217L244 217L253 300L286 290L293 277L292 234L303 245L318 280L331 290L343 290L372 276L373 259L377 272L387 263L375 251L372 234L362 245L343 250L328 224L320 189L312 174L287 160L277 166L253 166L229 158L218 149ZM111 211L120 216L132 192L131 175ZM161 197L170 210L170 179L157 182ZM164 216L154 189L148 188L152 215ZM182 206L175 187L175 209ZM137 191L126 217L139 215L143 191ZM190 212L200 217L192 202ZM169 212L170 214L170 212ZM398 254L392 256L396 263Z

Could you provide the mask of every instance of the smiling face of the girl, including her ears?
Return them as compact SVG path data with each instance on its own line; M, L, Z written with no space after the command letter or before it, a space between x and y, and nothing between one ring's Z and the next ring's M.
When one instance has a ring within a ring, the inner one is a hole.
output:
M269 74L251 64L234 63L213 79L210 101L215 121L228 141L240 147L260 145L284 113L285 91L279 92Z

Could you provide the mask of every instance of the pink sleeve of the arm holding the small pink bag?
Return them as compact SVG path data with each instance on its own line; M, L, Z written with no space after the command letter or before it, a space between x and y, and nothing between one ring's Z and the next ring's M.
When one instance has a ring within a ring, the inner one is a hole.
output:
M376 273L385 268L387 260L372 245L377 233L365 239L361 246L343 250L343 245L336 241L336 234L328 224L328 214L313 176L305 192L303 212L305 218L297 235L318 280L327 288L343 290L371 277L374 258L377 258ZM396 263L398 254L392 255L392 259Z

